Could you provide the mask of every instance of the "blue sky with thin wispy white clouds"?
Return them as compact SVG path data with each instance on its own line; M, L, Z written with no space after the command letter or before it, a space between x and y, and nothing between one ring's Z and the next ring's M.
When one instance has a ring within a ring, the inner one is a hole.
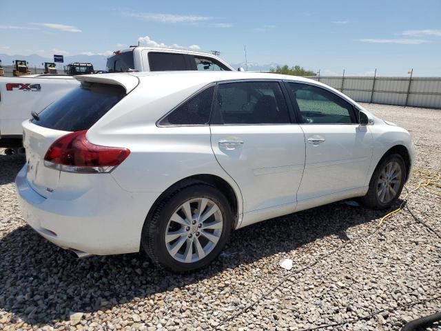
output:
M246 44L248 62L259 65L400 76L413 68L416 76L441 76L439 0L21 0L20 14L17 1L3 0L1 12L6 54L109 54L140 40L219 50L236 64L245 61Z

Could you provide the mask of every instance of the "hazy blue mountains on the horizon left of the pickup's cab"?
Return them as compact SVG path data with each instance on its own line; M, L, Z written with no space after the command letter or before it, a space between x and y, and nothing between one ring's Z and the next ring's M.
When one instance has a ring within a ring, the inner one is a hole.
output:
M14 60L25 60L29 62L29 66L31 68L37 67L41 68L41 63L43 62L53 62L53 58L45 58L41 57L38 54L30 54L30 55L8 55L8 54L0 54L1 64L3 66L12 66L12 61ZM107 57L104 55L70 55L64 57L64 63L61 63L63 66L72 63L72 62L90 62L94 65L95 70L105 70L105 63L107 62Z

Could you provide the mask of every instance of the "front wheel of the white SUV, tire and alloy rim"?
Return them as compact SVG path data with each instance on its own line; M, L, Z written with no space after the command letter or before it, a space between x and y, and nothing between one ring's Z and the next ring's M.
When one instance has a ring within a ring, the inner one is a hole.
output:
M396 167L395 170L393 167ZM365 197L361 198L361 202L373 209L391 208L400 197L406 174L406 165L400 154L386 155L373 172L369 190Z

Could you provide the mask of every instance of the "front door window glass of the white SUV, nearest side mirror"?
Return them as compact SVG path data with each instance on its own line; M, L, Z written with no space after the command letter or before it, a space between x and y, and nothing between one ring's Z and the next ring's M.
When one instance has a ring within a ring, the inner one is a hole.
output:
M302 123L357 123L353 106L336 94L309 84L288 83L288 85L294 94Z

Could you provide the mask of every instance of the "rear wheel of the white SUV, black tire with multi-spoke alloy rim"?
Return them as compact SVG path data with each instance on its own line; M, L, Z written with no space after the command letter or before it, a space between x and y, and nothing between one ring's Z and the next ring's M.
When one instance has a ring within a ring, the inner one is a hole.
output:
M232 229L227 199L205 183L176 190L158 203L151 214L145 220L141 243L156 265L172 272L189 272L211 263Z

